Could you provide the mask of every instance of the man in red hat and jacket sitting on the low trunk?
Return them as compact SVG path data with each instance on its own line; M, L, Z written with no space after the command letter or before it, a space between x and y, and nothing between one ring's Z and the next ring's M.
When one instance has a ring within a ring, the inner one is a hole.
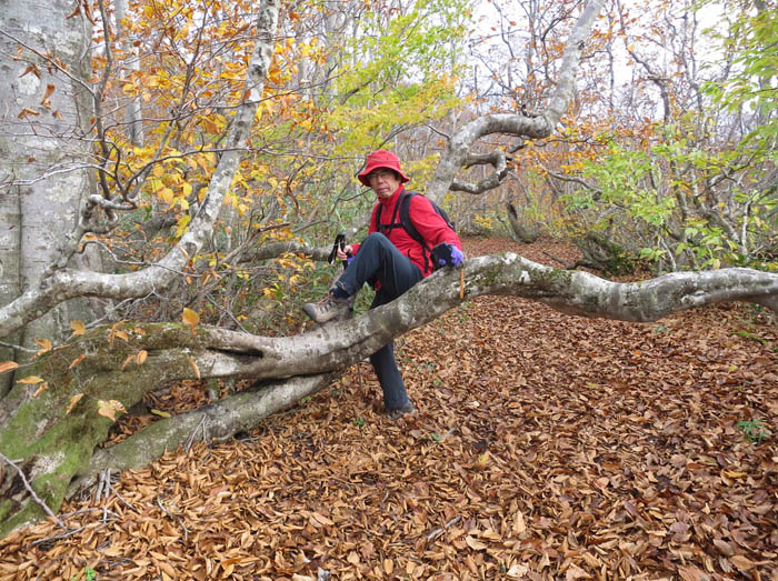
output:
M445 213L441 216L423 196L406 191L408 177L395 153L373 151L358 178L376 192L378 203L365 241L338 250L338 258L348 261L343 273L323 299L303 305L306 314L318 323L346 315L366 282L376 289L373 309L393 301L437 267L458 267L465 259L462 243ZM395 343L370 355L370 363L383 390L387 417L396 420L413 413L395 360Z

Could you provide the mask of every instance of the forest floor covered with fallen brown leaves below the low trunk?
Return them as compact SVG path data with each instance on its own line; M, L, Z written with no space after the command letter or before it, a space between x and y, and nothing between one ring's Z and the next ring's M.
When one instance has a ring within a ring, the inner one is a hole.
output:
M382 419L353 367L1 541L0 579L775 580L776 435L738 423L778 431L777 335L748 305L635 324L480 298L399 341L416 417Z

